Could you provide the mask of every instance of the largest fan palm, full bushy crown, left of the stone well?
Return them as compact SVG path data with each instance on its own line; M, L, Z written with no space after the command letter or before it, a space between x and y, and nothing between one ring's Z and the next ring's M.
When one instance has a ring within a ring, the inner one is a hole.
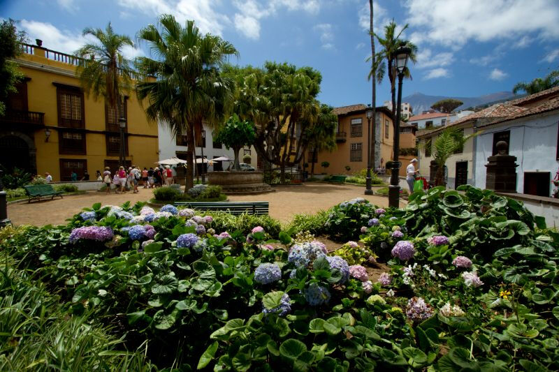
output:
M161 15L159 26L150 24L138 34L157 59L138 59L146 79L136 91L140 101L147 99L150 121L161 119L175 135L187 133L187 191L194 186L195 135L201 133L202 121L214 126L224 121L234 82L220 70L238 52L219 36L202 35L194 21L183 28L173 15Z

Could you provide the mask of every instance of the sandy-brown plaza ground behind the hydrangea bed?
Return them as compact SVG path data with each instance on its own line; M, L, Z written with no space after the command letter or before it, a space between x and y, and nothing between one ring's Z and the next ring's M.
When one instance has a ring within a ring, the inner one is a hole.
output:
M270 216L282 223L291 221L294 214L313 214L328 209L335 204L352 198L363 197L380 207L388 206L388 198L363 195L364 187L351 185L308 183L297 186L277 186L274 193L260 195L229 195L231 202L268 201ZM81 195L68 195L63 199L42 200L41 202L16 202L8 205L8 217L15 225L48 225L64 223L82 208L91 207L96 202L120 205L153 198L152 190L140 188L140 192L124 195L88 192ZM405 202L400 200L400 207Z

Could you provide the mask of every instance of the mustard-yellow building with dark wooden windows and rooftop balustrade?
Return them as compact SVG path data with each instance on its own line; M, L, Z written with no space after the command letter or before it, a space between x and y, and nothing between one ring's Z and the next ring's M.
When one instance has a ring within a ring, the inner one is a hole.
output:
M22 45L16 59L25 76L0 117L0 164L53 181L78 179L106 166L117 168L120 137L114 108L84 94L76 77L79 59L37 45ZM126 163L140 167L158 160L157 124L148 123L135 94L124 100Z

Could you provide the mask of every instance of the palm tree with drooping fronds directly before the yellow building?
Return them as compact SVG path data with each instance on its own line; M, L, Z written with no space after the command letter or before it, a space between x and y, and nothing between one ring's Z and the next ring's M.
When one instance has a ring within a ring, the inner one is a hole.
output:
M126 45L133 47L134 43L126 35L115 34L112 26L107 25L105 31L87 27L83 36L91 35L96 42L87 43L76 54L82 57L78 66L78 76L85 93L93 94L94 99L105 98L108 107L115 107L117 120L124 116L122 110L122 96L131 91L130 61L122 54ZM124 146L121 137L120 146ZM124 154L124 151L121 151ZM124 159L119 159L124 162ZM125 164L122 164L125 166Z

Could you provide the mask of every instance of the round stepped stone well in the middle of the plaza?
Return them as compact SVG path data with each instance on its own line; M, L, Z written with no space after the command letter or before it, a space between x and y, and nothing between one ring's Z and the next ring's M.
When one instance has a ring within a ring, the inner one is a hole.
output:
M263 172L208 172L211 185L222 186L226 194L258 194L273 191L263 182Z

